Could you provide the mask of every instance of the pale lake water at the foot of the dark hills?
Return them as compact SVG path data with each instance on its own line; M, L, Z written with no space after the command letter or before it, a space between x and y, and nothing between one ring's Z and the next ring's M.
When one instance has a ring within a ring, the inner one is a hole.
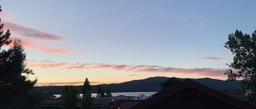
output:
M138 96L141 94L145 94L147 97L150 97L151 95L155 94L157 92L115 92L115 93L111 93L113 97L116 97L118 95L126 95L126 96ZM57 98L61 97L61 94L53 94L55 95ZM80 94L80 96L82 97L82 94ZM92 97L96 97L97 93L92 93Z

